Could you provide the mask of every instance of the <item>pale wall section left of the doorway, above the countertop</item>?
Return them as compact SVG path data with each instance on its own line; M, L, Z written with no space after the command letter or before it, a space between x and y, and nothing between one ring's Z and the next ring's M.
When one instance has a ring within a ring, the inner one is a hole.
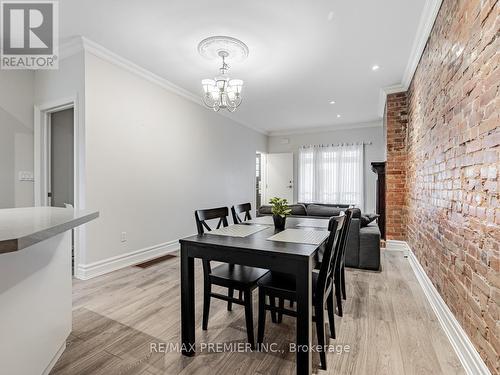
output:
M33 79L25 70L0 70L0 208L33 205Z

